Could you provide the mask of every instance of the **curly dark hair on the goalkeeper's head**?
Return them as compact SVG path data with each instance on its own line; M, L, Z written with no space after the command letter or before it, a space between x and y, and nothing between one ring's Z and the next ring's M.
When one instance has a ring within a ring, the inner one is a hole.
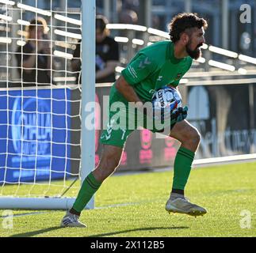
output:
M174 43L180 40L181 32L185 32L189 28L204 28L208 27L207 21L204 18L198 17L197 13L179 13L176 15L170 25L170 40Z

